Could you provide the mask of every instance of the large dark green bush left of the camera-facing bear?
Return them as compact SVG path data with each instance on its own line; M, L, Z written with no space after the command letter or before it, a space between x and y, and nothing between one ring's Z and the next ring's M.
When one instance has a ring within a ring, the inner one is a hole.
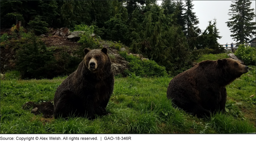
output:
M46 50L43 41L34 34L30 34L16 51L16 67L22 78L49 78L54 77L55 65L52 52Z

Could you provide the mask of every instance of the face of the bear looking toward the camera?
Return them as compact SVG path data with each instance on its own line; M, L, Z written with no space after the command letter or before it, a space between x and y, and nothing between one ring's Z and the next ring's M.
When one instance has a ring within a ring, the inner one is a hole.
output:
M107 52L108 49L105 47L102 50L89 50L85 48L85 57L83 60L86 67L93 73L97 72L98 70L103 70L105 63L109 60Z

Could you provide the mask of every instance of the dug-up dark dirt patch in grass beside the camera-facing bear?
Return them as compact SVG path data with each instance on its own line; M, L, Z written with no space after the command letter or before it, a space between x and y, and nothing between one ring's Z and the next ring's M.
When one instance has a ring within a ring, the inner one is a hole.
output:
M43 113L43 117L45 119L54 118L53 117L54 105L52 101L42 102L41 104L35 104L35 102L30 101L30 102L26 102L26 104L24 104L22 108L24 110L30 110L31 108L33 108L31 110L31 113L33 113L34 115L39 115Z

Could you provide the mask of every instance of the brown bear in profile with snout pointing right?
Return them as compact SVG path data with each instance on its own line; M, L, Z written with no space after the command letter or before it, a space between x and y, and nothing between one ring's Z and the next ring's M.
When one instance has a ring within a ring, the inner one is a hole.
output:
M229 58L202 61L170 81L167 98L199 118L210 117L214 112L225 110L225 86L248 69L240 61Z

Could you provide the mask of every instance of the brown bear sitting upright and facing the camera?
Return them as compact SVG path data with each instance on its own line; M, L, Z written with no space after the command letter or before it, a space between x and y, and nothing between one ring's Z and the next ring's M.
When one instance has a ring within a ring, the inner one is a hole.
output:
M114 74L108 49L84 49L85 57L76 71L57 88L54 118L70 116L94 119L106 115L106 106L114 88Z

